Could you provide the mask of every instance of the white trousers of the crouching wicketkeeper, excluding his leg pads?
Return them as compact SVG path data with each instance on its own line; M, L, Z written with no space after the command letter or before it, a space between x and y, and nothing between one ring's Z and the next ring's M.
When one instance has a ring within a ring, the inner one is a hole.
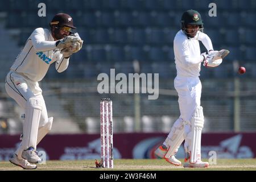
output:
M27 101L29 101L30 98L40 98L42 101L42 112L39 127L46 125L48 122L48 114L46 104L42 96L42 89L40 89L38 82L32 82L20 73L10 71L6 76L5 89L7 94L24 109L24 113L26 113Z

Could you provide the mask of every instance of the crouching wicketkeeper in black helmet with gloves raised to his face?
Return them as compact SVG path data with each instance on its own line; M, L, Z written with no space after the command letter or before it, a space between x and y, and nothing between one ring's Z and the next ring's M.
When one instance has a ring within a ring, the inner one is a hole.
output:
M27 39L6 76L5 88L25 111L22 142L10 162L24 169L35 169L40 162L36 146L51 130L53 117L48 118L46 104L39 87L49 66L57 72L68 68L69 58L80 51L83 40L72 32L70 15L56 14L49 28L36 28Z

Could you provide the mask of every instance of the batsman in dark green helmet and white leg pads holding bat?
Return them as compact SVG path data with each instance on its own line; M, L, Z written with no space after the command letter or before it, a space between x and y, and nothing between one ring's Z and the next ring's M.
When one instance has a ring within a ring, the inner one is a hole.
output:
M199 41L204 44L207 53L201 53ZM178 93L180 117L168 134L162 146L155 154L167 162L180 166L175 154L184 142L184 167L208 167L201 161L201 132L204 127L203 107L201 106L201 81L199 79L201 63L205 67L217 67L228 55L228 50L213 51L212 41L203 33L203 20L196 10L187 10L181 17L181 30L174 38L174 55L177 76L174 86Z

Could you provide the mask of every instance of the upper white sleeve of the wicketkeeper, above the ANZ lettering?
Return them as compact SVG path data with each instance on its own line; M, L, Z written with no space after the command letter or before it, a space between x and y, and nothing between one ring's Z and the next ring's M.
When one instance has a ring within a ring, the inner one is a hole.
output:
M56 41L46 41L43 28L36 28L31 34L31 40L36 51L56 49Z

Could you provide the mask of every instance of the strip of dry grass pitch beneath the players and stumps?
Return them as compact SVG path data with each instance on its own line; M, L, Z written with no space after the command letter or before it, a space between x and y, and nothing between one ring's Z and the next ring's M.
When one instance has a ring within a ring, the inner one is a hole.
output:
M207 161L207 160L203 160ZM75 171L186 171L186 170L246 170L256 171L256 159L217 159L217 164L210 165L208 168L183 168L173 166L163 159L115 159L114 168L96 168L95 160L48 160L46 164L38 164L35 170L56 171L56 170L75 170ZM23 170L10 162L0 162L2 170Z

